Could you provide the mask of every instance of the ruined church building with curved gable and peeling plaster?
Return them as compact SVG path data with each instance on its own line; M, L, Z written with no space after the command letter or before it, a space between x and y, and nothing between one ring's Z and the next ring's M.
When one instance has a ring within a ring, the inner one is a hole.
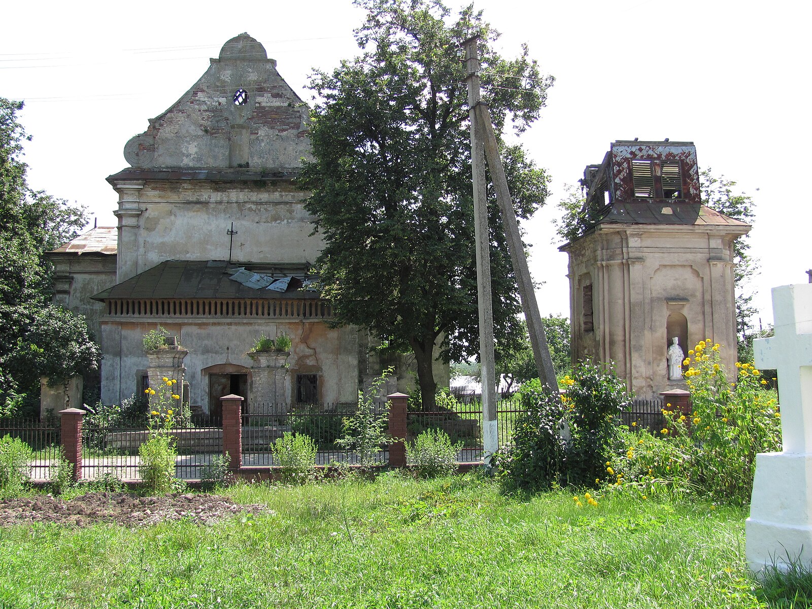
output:
M184 400L211 415L235 393L253 404L355 402L395 363L386 391L406 389L408 361L370 355L370 338L330 328L313 284L321 249L294 179L309 154L309 109L248 34L124 147L107 181L118 227L97 227L50 254L57 301L84 313L102 345L102 401L143 391L143 335L158 325L188 355ZM248 355L261 334L287 334L288 356ZM447 382L447 366L438 363Z

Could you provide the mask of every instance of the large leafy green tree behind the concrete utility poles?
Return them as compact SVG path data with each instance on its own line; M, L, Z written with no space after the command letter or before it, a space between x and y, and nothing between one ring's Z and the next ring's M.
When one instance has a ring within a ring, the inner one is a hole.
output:
M434 348L446 361L477 351L477 279L469 114L460 41L482 32L482 84L495 130L538 118L552 79L523 49L507 60L497 34L469 6L451 19L438 0L356 0L367 17L361 54L311 87L313 161L300 185L317 218L323 293L339 324L365 326L414 353L424 408L434 407ZM502 147L516 213L545 201L547 178L519 146ZM489 182L497 343L520 340L516 293Z

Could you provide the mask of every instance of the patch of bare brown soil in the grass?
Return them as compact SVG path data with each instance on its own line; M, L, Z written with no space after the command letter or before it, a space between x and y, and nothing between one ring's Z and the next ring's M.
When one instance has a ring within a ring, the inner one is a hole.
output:
M270 512L262 505L234 503L219 495L197 493L141 497L132 493L87 493L65 501L51 495L0 502L0 526L30 522L90 526L110 522L123 526L154 525L164 520L191 520L212 525L240 512Z

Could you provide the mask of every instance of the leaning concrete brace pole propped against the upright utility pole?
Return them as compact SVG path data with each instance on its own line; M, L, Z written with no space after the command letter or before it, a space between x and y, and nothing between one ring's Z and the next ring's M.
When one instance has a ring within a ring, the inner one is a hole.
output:
M477 39L478 37L469 38L468 41L464 42L464 45L466 45L466 61L475 61L478 70ZM472 56L473 59L469 60ZM525 247L521 242L519 223L516 221L516 210L513 209L513 201L510 189L508 188L508 179L505 177L502 159L499 158L499 144L496 141L493 122L490 120L490 110L488 110L488 106L480 100L478 74L474 81L470 73L469 68L469 115L473 114L475 117L475 119L471 120L472 146L474 133L476 133L477 137L482 138L481 140L477 140L476 147L482 149L482 143L479 142L484 141L485 153L488 158L488 166L490 167L490 175L494 179L496 200L499 202L499 210L502 212L502 219L505 225L505 234L508 237L508 249L510 250L510 257L513 263L513 273L516 274L516 283L518 284L519 295L521 297L521 308L525 312L525 319L527 320L527 330L530 335L530 344L533 346L533 357L536 360L538 378L542 379L542 383L547 391L550 393L558 393L558 382L555 379L555 369L553 368L553 362L550 356L550 348L547 346L547 339L544 335L542 316L541 313L538 312L536 293L533 290L533 279L530 277L530 270L527 266ZM472 96L471 89L474 86L477 91L475 95ZM472 97L474 98L473 103ZM474 125L476 125L476 129ZM474 192L476 192L476 187L474 188Z

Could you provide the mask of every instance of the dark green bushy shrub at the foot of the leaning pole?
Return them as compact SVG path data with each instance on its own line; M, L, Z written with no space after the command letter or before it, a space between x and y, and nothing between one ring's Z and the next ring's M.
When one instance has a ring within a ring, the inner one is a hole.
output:
M554 486L593 486L619 443L625 382L600 365L581 363L564 377L567 394L548 395L538 379L520 391L525 412L513 445L495 455L506 490L534 492Z

